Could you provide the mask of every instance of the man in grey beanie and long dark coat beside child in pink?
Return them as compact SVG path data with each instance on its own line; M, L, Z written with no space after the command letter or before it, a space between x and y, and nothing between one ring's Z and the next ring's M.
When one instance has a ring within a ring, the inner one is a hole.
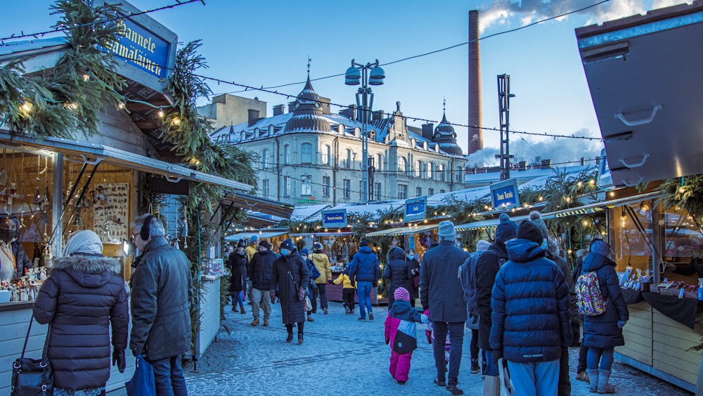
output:
M434 365L437 378L434 383L446 386L452 395L463 395L457 387L461 350L464 343L464 322L466 321L466 304L459 279L459 267L469 257L469 253L454 245L456 231L449 221L439 223L437 231L439 246L427 250L420 264L420 302L423 309L429 309L434 339L440 340L433 346ZM449 331L449 378L444 381L444 343Z

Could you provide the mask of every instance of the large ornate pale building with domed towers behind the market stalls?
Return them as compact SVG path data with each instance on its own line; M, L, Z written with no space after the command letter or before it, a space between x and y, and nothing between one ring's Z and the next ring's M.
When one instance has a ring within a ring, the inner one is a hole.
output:
M363 124L354 106L330 113L308 79L283 113L221 127L212 139L253 153L257 195L284 203L361 203ZM225 122L226 124L226 122ZM400 103L367 125L369 200L397 200L464 189L466 160L443 117L433 129L408 127Z

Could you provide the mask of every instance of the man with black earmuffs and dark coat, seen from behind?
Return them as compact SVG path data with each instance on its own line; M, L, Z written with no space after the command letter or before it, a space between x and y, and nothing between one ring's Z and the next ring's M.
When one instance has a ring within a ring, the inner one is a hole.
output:
M191 349L191 263L153 215L137 217L131 228L141 255L132 264L129 349L153 365L157 395L188 395L181 355Z

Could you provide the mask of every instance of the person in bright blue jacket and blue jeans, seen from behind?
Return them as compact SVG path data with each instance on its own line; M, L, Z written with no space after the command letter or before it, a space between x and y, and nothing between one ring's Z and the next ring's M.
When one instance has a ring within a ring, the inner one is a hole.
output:
M354 259L349 263L348 270L352 284L356 283L356 295L359 295L359 312L361 313L359 320L366 320L366 309L368 309L368 319L373 320L369 293L381 276L381 268L378 264L378 257L368 247L366 239L359 243L359 252L356 252Z

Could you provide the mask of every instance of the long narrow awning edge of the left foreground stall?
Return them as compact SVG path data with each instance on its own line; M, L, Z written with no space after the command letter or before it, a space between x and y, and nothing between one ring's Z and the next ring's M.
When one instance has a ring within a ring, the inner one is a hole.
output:
M85 162L106 163L117 165L128 169L138 170L139 172L147 172L153 174L162 174L169 180L178 181L186 179L191 181L200 181L202 183L224 186L238 191L252 191L254 186L240 183L224 177L214 176L205 172L192 170L181 165L175 165L169 162L155 160L154 158L145 157L129 151L120 150L103 146L101 144L86 143L82 141L72 141L68 139L60 139L46 137L44 139L32 139L25 136L11 136L6 132L0 132L1 145L9 148L21 148L27 151L35 152L37 150L53 151L64 155L73 155L81 157ZM46 155L46 153L40 153Z

